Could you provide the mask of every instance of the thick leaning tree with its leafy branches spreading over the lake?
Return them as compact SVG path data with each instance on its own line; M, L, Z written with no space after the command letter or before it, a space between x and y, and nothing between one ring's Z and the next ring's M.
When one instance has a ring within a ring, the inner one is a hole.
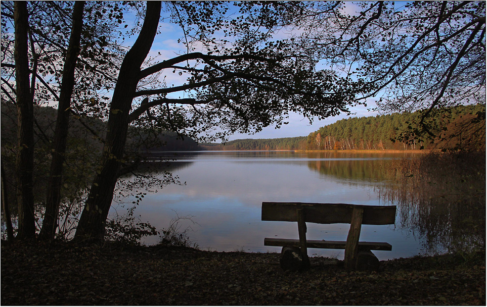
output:
M293 38L272 41L298 3L235 3L236 19L228 8L213 2L170 3L166 9L184 30L187 53L142 68L153 43L161 12L159 2L148 2L144 23L125 55L110 104L103 156L80 218L75 239L100 241L112 196L125 160L129 125L153 125L199 140L255 132L276 123L290 111L324 118L347 112L361 82L351 82L332 71L316 71ZM225 38L212 35L223 30ZM234 41L227 40L227 36ZM203 52L195 44L204 46ZM182 85L138 89L140 82L167 71L187 74ZM170 98L184 91L188 98ZM138 104L132 100L145 98ZM134 108L134 110L132 110ZM132 111L131 111L132 110ZM208 134L218 127L220 130Z

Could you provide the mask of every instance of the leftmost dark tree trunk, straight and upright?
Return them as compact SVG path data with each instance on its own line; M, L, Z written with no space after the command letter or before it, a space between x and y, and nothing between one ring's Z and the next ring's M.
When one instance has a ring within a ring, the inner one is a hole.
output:
M33 169L34 169L34 112L29 86L29 58L27 46L27 2L14 4L15 23L15 82L18 110L18 148L16 161L17 200L19 204L19 229L17 237L24 239L35 235Z

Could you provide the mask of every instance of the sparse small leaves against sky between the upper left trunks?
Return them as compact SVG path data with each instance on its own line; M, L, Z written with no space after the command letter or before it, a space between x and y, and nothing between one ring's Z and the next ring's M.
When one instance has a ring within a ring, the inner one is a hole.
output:
M71 33L73 3L28 2L29 63L35 76L34 104L47 105L60 96L63 60ZM88 2L84 8L80 52L76 66L73 112L105 118L106 97L116 78L123 48L123 10L118 3ZM2 95L15 96L13 78L13 2L2 2Z

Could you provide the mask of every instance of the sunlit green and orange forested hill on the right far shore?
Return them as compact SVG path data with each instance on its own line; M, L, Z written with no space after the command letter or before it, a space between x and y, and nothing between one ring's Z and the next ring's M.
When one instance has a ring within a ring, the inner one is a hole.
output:
M485 105L435 111L419 133L422 112L347 118L310 133L307 149L485 149ZM473 148L472 148L473 147Z

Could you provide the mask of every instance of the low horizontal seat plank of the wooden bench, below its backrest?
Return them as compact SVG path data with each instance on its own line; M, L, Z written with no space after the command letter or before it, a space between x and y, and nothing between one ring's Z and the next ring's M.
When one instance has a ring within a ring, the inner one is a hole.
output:
M264 238L265 246L294 246L299 247L299 239ZM307 248L345 249L346 241L306 240ZM392 245L386 242L359 242L360 250L392 250Z

